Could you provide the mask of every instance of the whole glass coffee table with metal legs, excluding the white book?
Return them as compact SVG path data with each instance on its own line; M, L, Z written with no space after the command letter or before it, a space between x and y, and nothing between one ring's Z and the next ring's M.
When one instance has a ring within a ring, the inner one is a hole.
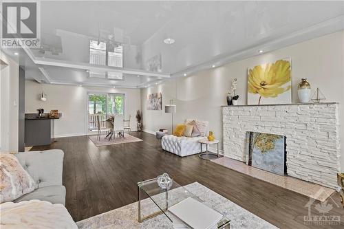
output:
M144 196L149 198L144 199ZM141 223L157 215L164 214L173 224L178 221L178 223L191 228L186 222L178 219L168 210L171 206L189 197L204 203L202 199L190 193L189 190L180 186L174 180L171 188L168 190L160 188L156 178L138 182L138 221ZM143 201L144 204L142 204ZM155 210L152 210L153 208ZM229 228L229 223L230 219L222 215L222 219L217 221L217 228Z

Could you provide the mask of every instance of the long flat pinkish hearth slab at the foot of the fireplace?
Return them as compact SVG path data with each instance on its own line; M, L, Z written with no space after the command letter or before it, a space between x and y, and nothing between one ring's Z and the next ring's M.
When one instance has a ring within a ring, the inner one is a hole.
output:
M220 157L215 160L212 160L211 162L221 164L222 166L231 168L240 173L250 175L251 177L261 179L264 182L275 184L282 188L292 190L296 193L300 193L301 195L305 195L307 197L311 197L319 201L325 201L327 197L330 197L330 195L332 195L332 193L334 193L335 191L332 188L327 188L311 182L305 182L301 179L297 179L294 177L281 176L275 173L270 173L259 168L248 166L244 162L239 162L228 157Z

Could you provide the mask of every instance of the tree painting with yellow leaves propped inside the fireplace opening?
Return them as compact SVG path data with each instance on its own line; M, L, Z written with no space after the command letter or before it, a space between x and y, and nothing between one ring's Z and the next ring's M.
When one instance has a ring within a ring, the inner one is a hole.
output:
M246 164L271 173L286 175L286 137L247 132Z

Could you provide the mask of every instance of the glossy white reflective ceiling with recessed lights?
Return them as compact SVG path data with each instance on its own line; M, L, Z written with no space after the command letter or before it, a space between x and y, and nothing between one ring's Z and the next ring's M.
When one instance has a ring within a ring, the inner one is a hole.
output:
M28 76L50 83L144 87L343 29L343 1L42 1L42 37L60 36L63 51L31 50L45 76L37 69ZM89 78L85 69L95 67L88 63L89 39L117 38L118 31L125 43L125 80ZM167 37L175 43L164 44ZM147 72L156 56L161 71Z

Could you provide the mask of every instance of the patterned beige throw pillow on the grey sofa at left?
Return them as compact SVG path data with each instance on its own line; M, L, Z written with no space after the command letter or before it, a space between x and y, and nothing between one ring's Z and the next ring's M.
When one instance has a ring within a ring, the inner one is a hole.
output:
M17 199L35 187L34 179L19 164L16 156L0 153L0 203Z

